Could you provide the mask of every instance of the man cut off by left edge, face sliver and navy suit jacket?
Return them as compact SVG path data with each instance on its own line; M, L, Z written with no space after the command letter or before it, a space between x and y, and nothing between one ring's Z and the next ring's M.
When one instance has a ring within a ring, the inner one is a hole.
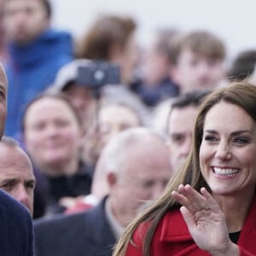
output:
M8 82L5 69L0 62L0 140L3 137L3 130L7 115L7 94ZM12 155L10 155L12 160ZM32 256L33 253L33 230L31 214L12 196L0 189L1 201L1 254Z

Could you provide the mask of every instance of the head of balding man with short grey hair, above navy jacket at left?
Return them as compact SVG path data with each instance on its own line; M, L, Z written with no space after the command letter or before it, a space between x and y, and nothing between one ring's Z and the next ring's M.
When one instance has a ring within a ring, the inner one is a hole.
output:
M35 185L30 158L13 138L3 137L0 142L0 189L20 201L33 215Z

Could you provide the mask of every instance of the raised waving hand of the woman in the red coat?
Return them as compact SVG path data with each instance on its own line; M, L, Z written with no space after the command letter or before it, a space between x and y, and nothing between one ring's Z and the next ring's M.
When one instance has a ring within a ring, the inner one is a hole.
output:
M198 247L212 255L239 255L230 241L224 212L207 189L199 193L190 185L179 185L172 196L183 206L180 211Z

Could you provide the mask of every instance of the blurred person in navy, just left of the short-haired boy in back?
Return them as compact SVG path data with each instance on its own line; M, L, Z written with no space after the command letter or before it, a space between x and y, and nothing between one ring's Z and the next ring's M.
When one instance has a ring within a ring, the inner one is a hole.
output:
M142 84L138 84L136 90L148 107L178 95L178 87L170 77L172 61L169 53L171 39L176 34L177 30L172 28L158 29L143 54Z

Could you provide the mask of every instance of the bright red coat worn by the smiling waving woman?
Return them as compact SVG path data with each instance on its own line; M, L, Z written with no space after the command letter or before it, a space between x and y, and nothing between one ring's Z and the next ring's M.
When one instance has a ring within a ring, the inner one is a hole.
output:
M126 256L143 256L143 237L148 224L141 225L133 236L133 241L137 245L129 244ZM237 245L240 248L240 256L256 255L256 199L248 212L247 219ZM189 234L187 225L179 210L166 213L165 217L158 225L153 241L151 243L151 256L209 256L202 251Z

